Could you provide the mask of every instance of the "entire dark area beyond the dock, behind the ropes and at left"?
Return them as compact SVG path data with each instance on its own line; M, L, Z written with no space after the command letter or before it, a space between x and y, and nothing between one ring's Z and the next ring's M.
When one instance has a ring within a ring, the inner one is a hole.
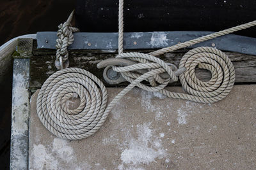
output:
M73 24L81 31L118 31L118 0L0 0L0 45L23 34L57 31L74 8ZM255 20L256 1L125 0L124 16L126 32L220 31ZM256 38L255 28L236 34ZM12 73L0 89L0 169L8 169Z

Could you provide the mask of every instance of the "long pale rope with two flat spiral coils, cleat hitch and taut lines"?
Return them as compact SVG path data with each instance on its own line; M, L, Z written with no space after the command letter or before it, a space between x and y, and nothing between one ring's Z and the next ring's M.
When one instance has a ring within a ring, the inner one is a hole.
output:
M124 0L119 2L119 37L118 55L116 57L133 60L137 63L131 66L113 66L113 70L120 72L130 84L107 106L106 87L88 71L67 68L52 74L40 89L36 110L45 127L60 138L82 139L95 133L104 124L115 104L136 86L151 92L159 91L176 99L188 99L200 103L220 101L227 96L235 81L234 66L225 53L216 48L199 47L190 50L182 57L179 68L186 67L186 71L179 78L183 89L188 94L170 92L164 89L170 81L178 80L174 72L177 68L173 70L163 60L155 56L256 25L255 20L201 38L162 48L149 54L123 53ZM67 29L72 32L70 26ZM67 36L72 39L70 34L67 34ZM67 56L67 53L65 56ZM63 58L67 59L67 57ZM211 80L201 81L196 78L195 67L211 71ZM148 72L141 74L141 72L138 72L141 69L148 69ZM163 78L162 73L167 73L169 77ZM149 81L150 86L141 83L143 80ZM76 109L71 110L66 106L66 103L74 94L79 96L81 102Z

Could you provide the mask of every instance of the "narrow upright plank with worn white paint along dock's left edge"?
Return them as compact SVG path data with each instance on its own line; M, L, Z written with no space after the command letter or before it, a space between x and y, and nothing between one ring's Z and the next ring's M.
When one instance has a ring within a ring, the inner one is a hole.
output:
M13 61L10 169L28 169L29 61Z

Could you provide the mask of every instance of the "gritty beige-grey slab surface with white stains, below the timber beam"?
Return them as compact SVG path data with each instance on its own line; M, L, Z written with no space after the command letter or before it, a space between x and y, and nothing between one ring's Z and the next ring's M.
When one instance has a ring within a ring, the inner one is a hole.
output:
M180 91L180 87L170 87ZM121 89L109 88L109 100ZM133 89L89 138L56 138L31 97L29 169L255 169L256 85L236 85L218 103Z

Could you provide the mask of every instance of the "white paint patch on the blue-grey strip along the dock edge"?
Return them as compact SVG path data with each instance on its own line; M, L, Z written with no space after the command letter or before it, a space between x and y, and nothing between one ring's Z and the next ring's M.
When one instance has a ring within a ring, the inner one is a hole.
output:
M170 39L167 38L167 34L164 32L153 32L149 45L152 47L163 47L168 46L168 41Z

